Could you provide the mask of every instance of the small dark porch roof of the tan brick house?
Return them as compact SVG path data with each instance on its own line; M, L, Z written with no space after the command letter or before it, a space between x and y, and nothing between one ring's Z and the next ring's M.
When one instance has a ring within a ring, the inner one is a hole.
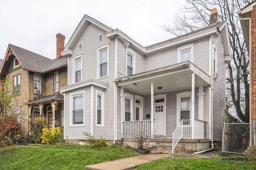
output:
M27 102L26 104L39 104L39 103L45 103L45 102L51 102L51 101L57 101L57 102L63 103L64 96L62 96L62 94L60 93L56 93L49 96L42 96L40 98L36 98L34 100Z

